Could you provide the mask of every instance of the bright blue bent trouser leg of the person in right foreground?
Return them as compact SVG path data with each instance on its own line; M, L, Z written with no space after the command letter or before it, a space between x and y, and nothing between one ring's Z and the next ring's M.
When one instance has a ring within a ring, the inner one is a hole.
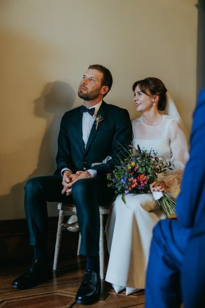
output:
M146 308L180 307L180 271L190 233L191 228L171 219L155 226L146 277Z

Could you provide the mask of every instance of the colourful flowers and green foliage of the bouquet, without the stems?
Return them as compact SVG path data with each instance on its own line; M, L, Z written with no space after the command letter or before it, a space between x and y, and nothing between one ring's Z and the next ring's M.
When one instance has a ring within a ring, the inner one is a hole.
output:
M148 152L138 145L137 149L130 146L128 151L122 148L118 158L119 165L107 176L108 186L115 188L117 194L148 192L149 185L157 179L159 173L166 173L168 168L174 167L170 161L159 158L154 150Z

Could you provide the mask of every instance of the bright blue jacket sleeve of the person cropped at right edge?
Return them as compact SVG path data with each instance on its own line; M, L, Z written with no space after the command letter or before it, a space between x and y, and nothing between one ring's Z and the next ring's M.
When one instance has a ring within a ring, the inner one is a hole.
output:
M190 159L183 173L181 192L177 198L180 224L193 227L205 214L205 90L199 94L193 114ZM204 220L205 226L205 220Z

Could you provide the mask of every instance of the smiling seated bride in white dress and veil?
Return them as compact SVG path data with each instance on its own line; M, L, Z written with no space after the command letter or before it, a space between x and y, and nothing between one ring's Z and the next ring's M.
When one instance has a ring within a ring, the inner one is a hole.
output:
M157 156L174 163L174 170L159 174L154 189L177 196L188 159L186 129L161 80L136 81L133 92L136 110L141 113L141 117L132 121L133 146L153 149ZM174 118L160 113L166 108L167 97L168 114ZM116 293L126 288L128 295L145 288L152 229L165 216L151 193L127 194L125 199L126 205L121 195L117 196L106 226L110 253L106 281L112 283Z

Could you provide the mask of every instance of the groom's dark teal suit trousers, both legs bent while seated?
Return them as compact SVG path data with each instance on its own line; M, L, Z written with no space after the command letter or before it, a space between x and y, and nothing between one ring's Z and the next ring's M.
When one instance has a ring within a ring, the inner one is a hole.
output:
M81 234L81 255L99 254L99 205L112 200L114 191L107 187L106 178L77 180L72 195L61 194L60 175L31 178L25 186L25 212L30 232L30 245L47 245L47 202L69 202L74 200Z

